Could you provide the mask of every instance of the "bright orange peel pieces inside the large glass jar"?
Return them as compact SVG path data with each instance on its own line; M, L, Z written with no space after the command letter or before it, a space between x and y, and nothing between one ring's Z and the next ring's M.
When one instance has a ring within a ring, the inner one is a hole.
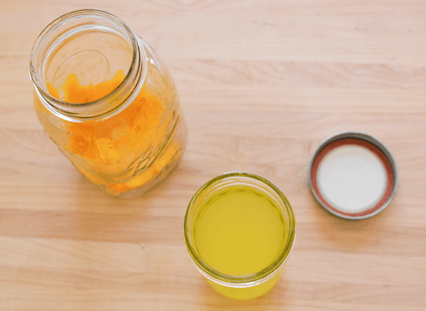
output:
M111 80L83 86L72 73L62 86L64 100L75 104L94 102L119 87L124 77L123 70L119 70ZM48 92L60 99L58 89L49 83ZM150 146L155 148L163 143L168 125L168 121L161 121L164 112L165 107L160 99L142 89L126 109L108 119L93 123L66 121L69 141L65 150L91 167L92 171L86 171L84 168L79 170L92 182L103 184L113 192L134 189L154 178L173 160L180 151L178 142L165 148L143 173L136 175L138 168L133 168L133 173L124 182L116 182L114 178L101 181L96 177L96 173L102 173L108 178L109 174L129 170L129 165L138 158L132 154L133 151L146 151Z

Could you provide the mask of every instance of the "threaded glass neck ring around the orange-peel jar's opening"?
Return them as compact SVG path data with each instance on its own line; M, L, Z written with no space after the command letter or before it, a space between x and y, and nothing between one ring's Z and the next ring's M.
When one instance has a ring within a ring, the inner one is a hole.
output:
M65 102L54 97L48 91L45 78L46 67L48 67L48 62L60 49L62 43L70 40L71 36L78 36L89 29L92 31L109 31L126 40L131 46L130 68L126 72L124 80L104 97L84 103ZM67 119L68 117L72 119L68 121L76 121L76 119L87 120L94 117L99 118L99 116L104 114L109 117L112 110L115 111L118 106L126 102L126 99L138 93L135 92L135 84L140 86L139 90L141 89L146 77L146 54L138 44L136 35L120 18L101 10L83 9L72 11L51 22L35 40L30 58L30 77L33 80L35 92L39 95L39 99L42 100L46 108L56 115L59 114L58 116L62 119ZM113 105L111 102L119 102L119 104ZM124 108L121 107L119 111ZM119 111L115 111L114 114Z

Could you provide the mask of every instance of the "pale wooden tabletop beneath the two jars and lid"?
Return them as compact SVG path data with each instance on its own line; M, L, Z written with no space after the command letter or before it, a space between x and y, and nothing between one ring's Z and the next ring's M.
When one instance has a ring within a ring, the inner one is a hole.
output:
M177 171L119 201L85 180L33 111L31 48L75 9L122 18L165 60L189 129ZM315 148L364 131L395 156L400 187L358 222L317 206ZM207 180L245 170L295 211L283 278L224 298L183 241ZM426 310L426 2L422 0L0 0L0 310Z

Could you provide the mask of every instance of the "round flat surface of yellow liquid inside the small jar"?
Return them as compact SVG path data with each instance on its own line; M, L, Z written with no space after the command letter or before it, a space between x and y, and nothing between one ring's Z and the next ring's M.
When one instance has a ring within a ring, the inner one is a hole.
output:
M267 268L287 239L280 207L247 185L226 187L207 200L197 212L193 234L202 260L228 275Z

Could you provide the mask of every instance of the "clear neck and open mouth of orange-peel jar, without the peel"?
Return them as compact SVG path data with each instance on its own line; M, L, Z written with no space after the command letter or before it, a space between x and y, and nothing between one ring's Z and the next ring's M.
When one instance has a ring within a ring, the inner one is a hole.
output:
M48 83L62 92L67 77L75 74L84 84L97 84L123 70L124 80L112 92L92 102L66 102L53 96ZM35 92L50 112L67 121L102 120L132 102L146 76L146 55L133 31L110 13L80 10L48 25L31 52L30 75Z

